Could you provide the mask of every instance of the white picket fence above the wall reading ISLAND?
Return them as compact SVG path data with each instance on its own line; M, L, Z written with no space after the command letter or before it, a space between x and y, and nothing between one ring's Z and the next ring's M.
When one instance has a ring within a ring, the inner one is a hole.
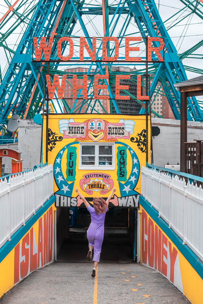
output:
M0 247L53 195L53 167L47 165L0 180Z

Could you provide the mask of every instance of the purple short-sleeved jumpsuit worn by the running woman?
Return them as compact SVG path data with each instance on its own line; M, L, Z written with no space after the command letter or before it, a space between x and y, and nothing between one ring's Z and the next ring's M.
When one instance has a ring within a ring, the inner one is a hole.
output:
M104 219L107 208L105 213L99 213L98 215L91 206L88 206L88 211L91 215L91 223L87 231L88 242L89 246L92 245L94 247L93 261L99 262L101 245L104 239Z

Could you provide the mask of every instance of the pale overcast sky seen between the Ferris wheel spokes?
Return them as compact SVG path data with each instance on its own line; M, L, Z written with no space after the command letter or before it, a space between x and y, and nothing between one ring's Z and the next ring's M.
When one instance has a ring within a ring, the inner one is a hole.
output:
M87 0L85 3L93 4L96 0ZM10 1L11 4L15 2L15 0ZM32 2L26 2L26 5L29 3L36 3L37 0L33 0ZM184 5L181 3L180 0L156 0L156 5L159 9L160 16L163 20L163 22L167 19L169 19L171 16L176 14L179 10L184 8ZM199 2L199 1L198 1ZM101 0L97 1L97 3L101 3ZM118 1L112 0L109 4L113 3L116 5ZM203 12L202 7L198 4L198 7ZM22 9L25 9L26 7L22 7ZM3 16L3 14L8 10L8 7L6 5L5 0L0 0L0 18ZM165 22L166 27L170 27L174 24L174 22L177 22L176 20L182 19L184 16L187 16L191 10L189 9L183 9L181 12L179 12L176 16L171 18L169 21ZM11 13L9 13L11 15ZM203 16L203 14L202 14ZM112 16L110 16L111 20ZM119 24L116 27L114 36L116 36L116 33L119 32L119 28L122 26L122 22L125 20L125 15L120 18ZM12 24L12 22L16 20L16 16L12 16L10 21L7 23L6 26L4 26L1 29L2 33L6 33L8 30L8 26ZM87 29L90 36L103 36L103 23L102 23L102 16L84 16L83 17L84 23L87 23ZM12 33L10 35L9 39L7 40L8 46L15 50L20 38L22 37L22 33L24 32L26 28L26 24L24 26L21 25L21 28L16 29L15 33ZM134 20L132 19L131 24L128 27L127 33L134 33L137 31L137 27L134 23ZM198 17L196 14L190 14L184 20L182 20L180 23L178 23L176 26L172 27L168 30L168 33L177 48L178 54L183 53L185 50L188 50L190 47L198 43L203 39L203 19ZM79 22L76 24L73 34L76 34L77 36L84 36L84 33L81 30L81 26ZM139 36L139 35L136 35ZM196 54L203 54L203 47L200 47ZM202 57L202 56L201 56ZM1 70L3 71L6 67L7 60L5 57L5 53L2 47L0 47L0 64L1 64ZM197 67L202 68L202 59L184 59L183 60L184 65L188 65L191 67ZM186 74L188 78L193 78L196 76L199 76L200 74L195 74L193 72L186 71ZM199 99L199 98L198 98ZM201 98L202 99L202 98Z

